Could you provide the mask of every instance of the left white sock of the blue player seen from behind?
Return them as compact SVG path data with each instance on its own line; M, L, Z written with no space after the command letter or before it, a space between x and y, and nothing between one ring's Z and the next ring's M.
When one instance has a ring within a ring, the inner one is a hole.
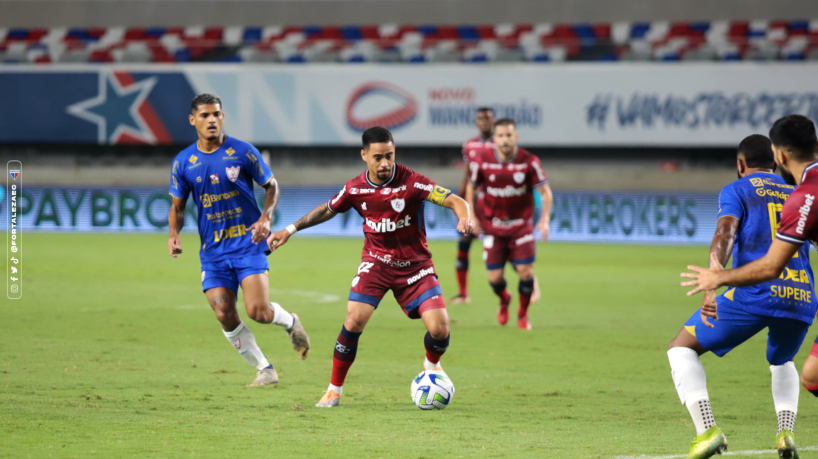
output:
M699 355L693 349L674 347L667 351L673 383L679 399L687 406L687 411L696 426L696 435L703 434L716 425L710 396L707 394L707 376Z

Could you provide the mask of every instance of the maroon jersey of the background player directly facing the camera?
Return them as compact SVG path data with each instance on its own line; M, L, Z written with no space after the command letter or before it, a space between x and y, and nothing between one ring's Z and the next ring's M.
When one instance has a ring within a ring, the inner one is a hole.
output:
M502 161L494 149L475 155L469 163L469 180L484 187L486 197L481 221L483 231L493 236L512 236L533 230L532 190L548 183L539 158L517 149L509 161Z

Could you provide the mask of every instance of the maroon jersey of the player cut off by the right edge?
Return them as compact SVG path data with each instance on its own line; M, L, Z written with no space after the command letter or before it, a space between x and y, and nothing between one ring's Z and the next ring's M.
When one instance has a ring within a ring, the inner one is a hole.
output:
M818 161L801 175L801 184L781 209L781 224L775 237L791 244L818 243Z

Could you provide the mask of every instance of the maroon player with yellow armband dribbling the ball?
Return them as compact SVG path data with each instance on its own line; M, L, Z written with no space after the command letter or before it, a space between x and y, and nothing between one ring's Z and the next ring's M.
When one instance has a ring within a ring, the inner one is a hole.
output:
M387 129L367 129L362 141L361 157L367 169L348 181L329 202L267 238L270 250L276 250L296 231L323 223L338 213L355 209L364 219L361 265L352 279L347 318L335 343L332 379L317 407L340 403L344 379L358 351L358 339L387 290L392 290L409 318L421 319L428 330L424 369L443 371L440 357L449 347L449 316L432 254L426 246L424 204L429 201L454 210L458 231L466 235L472 231L466 201L395 163L395 143Z

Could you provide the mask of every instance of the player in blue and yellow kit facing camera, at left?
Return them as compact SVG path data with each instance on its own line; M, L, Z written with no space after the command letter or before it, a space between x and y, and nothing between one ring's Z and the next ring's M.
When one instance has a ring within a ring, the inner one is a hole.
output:
M199 211L202 290L224 336L258 370L250 385L276 384L278 374L239 318L236 295L241 285L247 315L256 322L284 328L296 354L307 358L310 342L298 316L269 302L269 251L263 241L270 233L278 204L278 183L254 146L222 133L224 113L218 97L196 96L189 118L199 140L182 150L171 167L168 249L174 258L182 253L179 231L184 225L187 199L193 193ZM253 181L265 190L263 212L253 195Z

